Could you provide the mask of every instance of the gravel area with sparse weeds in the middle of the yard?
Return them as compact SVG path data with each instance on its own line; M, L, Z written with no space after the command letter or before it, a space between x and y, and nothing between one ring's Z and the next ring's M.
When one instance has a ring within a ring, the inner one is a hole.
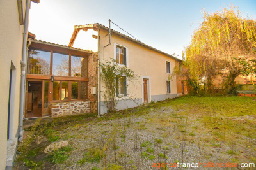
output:
M74 150L67 161L60 165L60 169L115 169L115 164L120 169L125 169L125 166L126 169L157 169L152 167L157 162L182 162L182 151L183 162L231 162L231 155L227 153L230 146L212 138L198 118L180 115L182 111L172 108L152 109L146 115L97 124L90 122L65 129L60 132L61 137L68 140ZM113 145L116 145L116 150ZM77 164L83 159L84 153L100 152L104 148L106 151L102 153L106 157L102 157L99 162Z

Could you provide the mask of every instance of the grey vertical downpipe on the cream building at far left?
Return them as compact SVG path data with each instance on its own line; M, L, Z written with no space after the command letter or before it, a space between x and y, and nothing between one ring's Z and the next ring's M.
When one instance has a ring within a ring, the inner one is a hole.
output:
M20 111L19 111L19 141L23 139L23 117L25 106L25 88L26 88L26 56L27 56L27 38L28 38L28 17L29 17L30 0L26 0L26 11L23 31L23 46L21 64L21 80L20 80Z

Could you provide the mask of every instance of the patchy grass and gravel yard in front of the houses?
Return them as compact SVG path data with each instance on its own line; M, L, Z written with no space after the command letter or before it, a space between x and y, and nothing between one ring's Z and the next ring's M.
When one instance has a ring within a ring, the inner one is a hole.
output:
M188 147L194 145L195 151L192 150L192 152L200 150L200 154L195 155L202 160L215 159L218 153L218 156L223 155L223 157L217 156L216 159L225 160L225 157L228 157L228 159L232 158L233 162L235 160L255 162L256 119L253 118L256 115L255 106L255 98L250 97L183 96L108 113L100 118L95 115L54 118L54 122L43 131L44 138L48 139L48 141L46 139L47 145L58 140L68 140L70 145L74 145L73 143L86 143L86 145L75 144L72 152L62 148L50 155L44 155L51 158L48 159L49 162L45 162L44 158L36 157L44 152L46 145L36 146L35 141L29 141L27 146L36 147L26 147L26 155L18 160L29 169L31 167L44 169L45 164L57 164L62 168L68 166L72 169L74 162L79 164L81 169L91 164L93 165L88 169L97 169L103 165L105 169L124 169L124 159L126 159L126 169L135 169L135 167L140 169L140 161L148 165L152 161L157 162L157 157L158 161L159 159L160 161L166 159L166 162L170 162L169 159L180 160L179 136L177 136L179 133L186 136L189 141ZM124 127L126 134L122 132ZM91 132L91 129L94 131ZM95 133L95 129L99 134ZM34 128L33 131L36 129ZM144 138L146 135L147 139ZM236 145L231 148L232 142ZM165 150L166 144L170 152L166 151L167 148ZM186 157L191 149L186 148L184 151ZM80 160L70 158L70 155L76 155L79 152L84 153ZM114 152L116 152L116 162ZM135 156L125 157L124 153ZM188 162L188 160L185 161Z

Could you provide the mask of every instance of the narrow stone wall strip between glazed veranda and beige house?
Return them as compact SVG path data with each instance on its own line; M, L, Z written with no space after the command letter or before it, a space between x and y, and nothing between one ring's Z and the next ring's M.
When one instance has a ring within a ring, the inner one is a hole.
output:
M97 87L97 59L98 59L98 53L92 53L88 57L88 99L91 101L91 110L92 113L97 113L97 94L92 94L91 89L93 87Z

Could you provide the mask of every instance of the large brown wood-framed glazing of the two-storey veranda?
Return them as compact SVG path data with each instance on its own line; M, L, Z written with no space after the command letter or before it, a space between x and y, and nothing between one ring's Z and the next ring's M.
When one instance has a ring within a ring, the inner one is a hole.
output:
M124 52L121 53L124 55ZM88 54L81 50L31 43L27 56L27 78L42 81L44 96L40 103L44 108L51 101L88 99ZM53 82L49 81L51 76L54 76Z

